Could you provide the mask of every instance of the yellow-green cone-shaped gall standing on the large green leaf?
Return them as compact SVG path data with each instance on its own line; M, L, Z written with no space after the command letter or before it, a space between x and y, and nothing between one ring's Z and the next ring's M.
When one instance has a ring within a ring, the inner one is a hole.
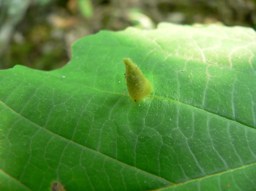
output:
M134 102L139 102L147 98L152 91L151 83L130 58L124 58L124 63L125 79L131 99Z

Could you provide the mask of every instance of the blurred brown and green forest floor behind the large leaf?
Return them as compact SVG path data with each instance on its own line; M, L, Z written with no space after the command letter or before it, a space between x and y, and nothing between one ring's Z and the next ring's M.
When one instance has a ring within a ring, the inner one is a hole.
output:
M0 0L0 69L57 69L71 45L99 30L154 29L159 22L256 29L255 0Z

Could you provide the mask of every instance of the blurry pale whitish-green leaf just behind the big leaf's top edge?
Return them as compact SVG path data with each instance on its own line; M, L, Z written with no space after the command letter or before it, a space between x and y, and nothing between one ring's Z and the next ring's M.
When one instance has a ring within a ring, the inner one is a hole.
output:
M141 29L155 29L156 24L139 9L132 9L129 13L129 19L134 26Z

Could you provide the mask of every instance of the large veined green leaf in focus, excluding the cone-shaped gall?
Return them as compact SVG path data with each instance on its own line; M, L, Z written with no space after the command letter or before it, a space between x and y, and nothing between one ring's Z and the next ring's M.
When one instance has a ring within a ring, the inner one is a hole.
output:
M255 190L255 54L250 28L161 23L82 38L58 70L0 71L0 188ZM139 104L124 58L153 87Z

